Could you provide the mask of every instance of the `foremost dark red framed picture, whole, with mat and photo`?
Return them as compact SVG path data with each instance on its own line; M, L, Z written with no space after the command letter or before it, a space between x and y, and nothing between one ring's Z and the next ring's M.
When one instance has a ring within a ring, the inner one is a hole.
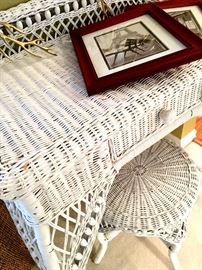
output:
M154 4L70 34L89 95L202 57L202 40Z

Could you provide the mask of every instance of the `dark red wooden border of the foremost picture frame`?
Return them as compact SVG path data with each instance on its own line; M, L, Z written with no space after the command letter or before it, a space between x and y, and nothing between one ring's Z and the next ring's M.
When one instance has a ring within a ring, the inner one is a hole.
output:
M185 46L185 49L110 75L98 77L82 37L145 14L151 16L173 37L180 41ZM121 15L75 29L70 34L89 95L103 92L118 85L177 67L202 57L202 40L154 4L138 5L135 9L130 9Z

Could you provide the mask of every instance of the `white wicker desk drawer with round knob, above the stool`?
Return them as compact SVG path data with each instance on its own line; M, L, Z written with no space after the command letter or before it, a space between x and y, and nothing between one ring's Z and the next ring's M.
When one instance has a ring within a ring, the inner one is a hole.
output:
M152 134L155 136L157 131L164 127L173 126L173 129L175 129L173 123L201 102L202 84L200 82L182 93L176 94L170 100L165 99L159 106L148 111L141 118L135 118L131 125L120 130L110 140L112 160L120 160L130 149L151 138Z

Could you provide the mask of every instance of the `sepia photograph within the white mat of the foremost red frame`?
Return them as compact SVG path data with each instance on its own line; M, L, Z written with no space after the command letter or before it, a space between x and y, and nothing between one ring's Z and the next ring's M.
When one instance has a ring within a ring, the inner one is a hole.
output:
M109 69L168 50L142 21L96 36L95 42Z

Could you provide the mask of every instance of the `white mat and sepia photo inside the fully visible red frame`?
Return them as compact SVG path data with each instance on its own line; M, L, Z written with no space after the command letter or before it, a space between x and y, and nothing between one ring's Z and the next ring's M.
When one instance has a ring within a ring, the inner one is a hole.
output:
M83 35L82 39L98 78L185 49L149 14Z

